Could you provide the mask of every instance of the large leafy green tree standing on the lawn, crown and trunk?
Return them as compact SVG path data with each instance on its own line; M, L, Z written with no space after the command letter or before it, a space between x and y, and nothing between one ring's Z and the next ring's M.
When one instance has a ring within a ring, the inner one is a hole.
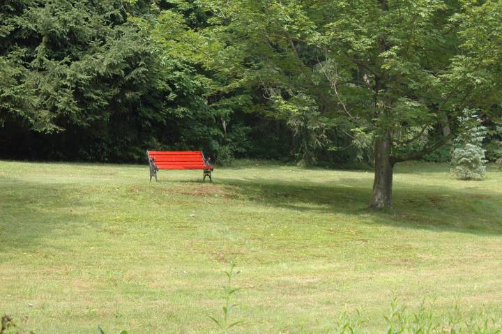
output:
M218 70L227 91L260 86L311 144L328 127L372 138L374 208L392 206L395 164L448 144L462 109L501 112L502 1L193 2L207 27L170 17L156 33Z

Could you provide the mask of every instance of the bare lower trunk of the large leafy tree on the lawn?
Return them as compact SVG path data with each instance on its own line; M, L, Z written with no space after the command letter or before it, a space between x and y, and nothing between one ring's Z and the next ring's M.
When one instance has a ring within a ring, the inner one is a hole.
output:
M394 162L390 157L390 135L377 138L374 144L375 175L371 208L390 208Z

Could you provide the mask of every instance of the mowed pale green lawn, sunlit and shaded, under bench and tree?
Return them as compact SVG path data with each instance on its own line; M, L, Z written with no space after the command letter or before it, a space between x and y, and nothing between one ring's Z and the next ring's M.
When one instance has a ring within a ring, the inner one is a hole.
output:
M0 162L0 312L35 333L217 333L223 271L243 288L235 333L329 333L390 301L438 317L502 314L502 172L395 174L395 209L367 210L372 172L241 162L201 171ZM498 322L500 324L500 322Z

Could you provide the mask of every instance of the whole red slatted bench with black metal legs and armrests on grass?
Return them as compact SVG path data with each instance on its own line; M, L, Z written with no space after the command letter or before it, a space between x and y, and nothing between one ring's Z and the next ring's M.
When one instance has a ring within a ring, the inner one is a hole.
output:
M157 181L157 171L159 169L202 169L204 171L204 179L209 176L211 179L211 172L213 165L211 159L204 158L202 151L146 151L149 157L150 164L150 182L152 176Z

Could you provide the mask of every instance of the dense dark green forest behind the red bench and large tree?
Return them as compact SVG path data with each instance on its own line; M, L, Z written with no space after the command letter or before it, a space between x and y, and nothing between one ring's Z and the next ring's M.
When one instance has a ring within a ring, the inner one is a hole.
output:
M333 92L323 93L328 80L312 79L314 88L301 83L317 100L301 100L282 86L283 100L319 106L287 112L267 91L273 78L245 75L227 54L211 63L201 60L214 56L211 50L188 50L200 42L195 34L213 24L213 13L200 1L2 1L0 158L144 162L146 149L193 149L220 162L372 163L372 135L324 116L345 107ZM169 37L173 22L183 24L183 35ZM193 40L186 40L190 33ZM319 70L319 52L291 45L300 66L272 47L283 62L282 82ZM248 56L248 68L256 57ZM490 143L500 135L492 120L484 125L487 156L494 159ZM446 145L423 159L447 161L449 155Z

